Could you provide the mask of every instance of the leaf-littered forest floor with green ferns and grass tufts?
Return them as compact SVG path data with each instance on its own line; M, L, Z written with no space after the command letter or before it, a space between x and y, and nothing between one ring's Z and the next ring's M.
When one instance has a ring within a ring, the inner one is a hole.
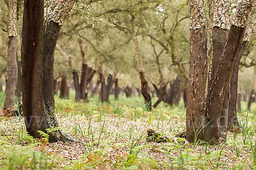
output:
M38 141L27 135L23 117L0 116L0 168L256 169L253 111L239 113L243 133L228 132L227 142L210 146L204 142L178 142L175 138L186 129L186 109L182 103L173 107L161 103L149 112L142 98L111 99L111 104L98 102L97 96L89 103L76 103L55 97L61 130L80 143ZM174 142L150 142L148 129Z

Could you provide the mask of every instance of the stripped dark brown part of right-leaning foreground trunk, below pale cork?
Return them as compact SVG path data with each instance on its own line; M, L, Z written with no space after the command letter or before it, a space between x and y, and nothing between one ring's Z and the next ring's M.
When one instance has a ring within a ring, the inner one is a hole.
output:
M222 105L226 102L224 95L226 95L227 91L230 89L229 82L239 46L244 36L244 31L245 28L231 26L227 45L221 56L220 64L207 94L206 119L207 122L209 122L209 126L207 126L206 138L208 141L213 139L213 142L218 143L219 139L226 133L225 127L220 124L223 109Z

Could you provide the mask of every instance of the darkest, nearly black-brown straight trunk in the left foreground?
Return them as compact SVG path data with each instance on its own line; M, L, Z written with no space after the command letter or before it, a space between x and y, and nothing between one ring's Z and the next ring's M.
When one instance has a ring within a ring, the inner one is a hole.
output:
M43 1L24 0L21 41L23 114L26 130L31 136L38 139L40 139L38 130L45 131L50 127L58 127L54 114L44 110L43 14ZM49 133L49 142L57 142L58 140L65 142L68 139L60 131Z

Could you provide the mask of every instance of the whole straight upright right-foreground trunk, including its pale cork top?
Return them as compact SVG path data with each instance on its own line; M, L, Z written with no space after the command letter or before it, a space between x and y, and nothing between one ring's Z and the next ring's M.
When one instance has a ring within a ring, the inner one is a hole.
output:
M186 132L193 142L195 130L201 129L205 117L205 86L207 81L208 43L205 28L204 0L189 0L190 66L187 88ZM198 136L202 139L202 136Z

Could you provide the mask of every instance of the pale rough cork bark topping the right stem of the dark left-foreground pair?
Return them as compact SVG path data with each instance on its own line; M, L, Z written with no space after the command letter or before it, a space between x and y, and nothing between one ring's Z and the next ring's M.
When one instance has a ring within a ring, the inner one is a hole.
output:
M50 21L62 26L64 20L73 8L75 0L45 0L44 1L44 22Z

